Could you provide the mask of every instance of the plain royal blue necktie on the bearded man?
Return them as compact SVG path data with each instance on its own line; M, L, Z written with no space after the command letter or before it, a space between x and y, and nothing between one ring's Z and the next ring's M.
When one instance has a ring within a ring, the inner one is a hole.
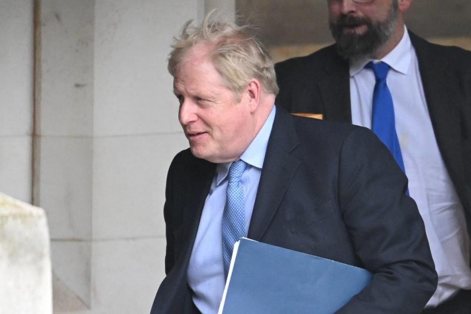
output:
M405 173L401 147L399 146L396 133L394 106L392 105L391 92L386 84L386 77L390 67L384 62L369 62L365 68L372 69L376 77L373 91L371 130L389 148L397 164Z

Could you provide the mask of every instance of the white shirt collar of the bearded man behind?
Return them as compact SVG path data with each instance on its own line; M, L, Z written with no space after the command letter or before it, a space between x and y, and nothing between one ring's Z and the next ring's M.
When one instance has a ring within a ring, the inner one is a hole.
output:
M374 60L368 58L366 56L360 56L350 60L350 77L355 76L358 74L368 63L369 61L383 61L387 63L392 69L395 71L407 74L407 70L409 69L409 64L411 63L412 54L414 52L414 48L411 43L411 39L409 37L409 32L407 31L406 26L404 26L404 35L402 36L399 43L394 47L394 49L389 52L384 58L381 60Z

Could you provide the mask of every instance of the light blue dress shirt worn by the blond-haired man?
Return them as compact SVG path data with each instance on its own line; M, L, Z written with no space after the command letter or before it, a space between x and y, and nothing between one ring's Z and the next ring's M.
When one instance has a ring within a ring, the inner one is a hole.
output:
M240 159L247 163L240 179L244 189L245 235L250 225L259 187L266 146L275 119L275 106L262 129ZM220 163L206 197L198 233L188 264L187 281L193 291L193 302L201 313L217 313L225 286L222 262L221 223L226 204L227 174L232 162Z

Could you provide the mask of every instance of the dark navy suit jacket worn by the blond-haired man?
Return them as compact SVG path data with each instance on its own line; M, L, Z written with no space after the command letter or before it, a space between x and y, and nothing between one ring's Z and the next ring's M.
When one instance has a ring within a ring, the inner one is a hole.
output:
M152 314L197 313L186 274L215 166L189 149L170 165L167 276ZM372 282L338 313L420 313L437 275L406 186L371 131L295 117L277 107L248 237L373 272Z

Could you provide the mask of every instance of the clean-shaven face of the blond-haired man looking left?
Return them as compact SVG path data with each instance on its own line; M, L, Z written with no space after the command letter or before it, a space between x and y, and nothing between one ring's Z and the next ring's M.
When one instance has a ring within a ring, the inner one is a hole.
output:
M253 140L248 97L243 92L240 101L235 99L207 59L207 51L203 45L192 48L175 73L179 120L195 157L233 161Z

